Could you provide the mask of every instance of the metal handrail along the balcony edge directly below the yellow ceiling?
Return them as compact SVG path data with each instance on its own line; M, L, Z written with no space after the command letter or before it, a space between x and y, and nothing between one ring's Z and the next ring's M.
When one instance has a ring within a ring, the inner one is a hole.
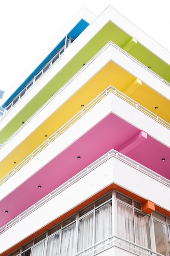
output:
M89 103L83 110L79 111L72 119L70 119L64 126L62 126L59 130L57 130L53 135L51 135L46 141L44 141L38 148L36 148L30 155L28 155L18 166L16 166L12 171L10 171L7 175L5 175L2 180L0 180L0 185L2 185L6 180L8 180L14 173L16 173L22 166L24 166L27 162L29 162L35 155L37 155L42 149L48 146L54 139L56 139L59 135L61 135L69 126L71 126L75 121L77 121L82 115L84 115L88 110L90 110L95 104L97 104L101 99L103 99L108 93L114 93L121 99L124 99L126 102L130 103L132 106L137 108L138 110L144 112L146 115L154 119L155 121L159 122L161 125L165 126L166 128L170 129L170 124L166 121L155 115L154 113L150 112L136 101L130 99L124 93L120 92L119 90L115 89L112 85L110 85L106 90L104 90L99 96L97 96L91 103Z

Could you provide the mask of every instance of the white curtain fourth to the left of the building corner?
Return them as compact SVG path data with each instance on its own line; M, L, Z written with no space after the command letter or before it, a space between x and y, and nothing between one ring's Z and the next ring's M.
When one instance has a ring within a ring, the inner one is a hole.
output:
M58 256L60 248L60 233L48 239L46 256Z

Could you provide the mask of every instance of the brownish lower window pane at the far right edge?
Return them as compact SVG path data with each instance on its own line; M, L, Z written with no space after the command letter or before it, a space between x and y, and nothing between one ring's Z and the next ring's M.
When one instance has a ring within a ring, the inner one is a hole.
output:
M163 255L170 253L170 241L168 236L168 226L154 220L156 251Z

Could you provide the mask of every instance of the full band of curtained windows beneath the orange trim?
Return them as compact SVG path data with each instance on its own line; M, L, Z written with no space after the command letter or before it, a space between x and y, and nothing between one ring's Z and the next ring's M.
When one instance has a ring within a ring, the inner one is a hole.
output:
M121 243L103 242L114 235ZM73 256L77 253L91 256L113 245L141 256L149 255L149 249L167 256L170 255L169 237L170 218L157 212L147 215L141 211L139 202L111 191L10 256ZM93 248L88 249L91 246Z

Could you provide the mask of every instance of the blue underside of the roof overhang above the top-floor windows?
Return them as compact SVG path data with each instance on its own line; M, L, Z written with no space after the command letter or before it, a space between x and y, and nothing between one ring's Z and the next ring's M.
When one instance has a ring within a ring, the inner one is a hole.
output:
M85 20L80 20L75 27L68 33L68 36L74 40L88 27L89 23ZM30 74L30 76L20 85L20 87L11 95L9 99L3 104L5 108L21 91L22 89L33 79L33 77L40 72L40 70L50 61L50 59L58 52L58 50L65 44L65 38L53 49L53 51L40 63L40 65Z

